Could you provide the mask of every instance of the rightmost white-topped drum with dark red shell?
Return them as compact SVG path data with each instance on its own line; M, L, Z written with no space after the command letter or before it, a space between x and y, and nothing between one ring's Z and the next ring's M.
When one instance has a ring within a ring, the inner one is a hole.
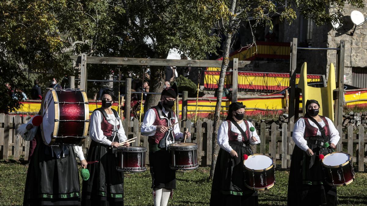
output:
M354 180L352 158L345 152L333 152L322 160L326 182L331 186L345 186Z

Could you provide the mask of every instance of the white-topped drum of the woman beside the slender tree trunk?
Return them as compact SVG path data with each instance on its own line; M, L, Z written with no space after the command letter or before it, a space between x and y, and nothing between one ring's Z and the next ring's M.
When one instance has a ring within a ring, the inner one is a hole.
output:
M253 154L243 162L246 169L246 187L268 190L275 184L274 159L266 154Z

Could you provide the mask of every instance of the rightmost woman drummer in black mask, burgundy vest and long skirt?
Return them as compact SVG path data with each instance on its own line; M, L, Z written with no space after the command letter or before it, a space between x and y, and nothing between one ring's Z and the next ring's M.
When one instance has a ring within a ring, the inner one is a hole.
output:
M288 180L288 205L337 205L337 188L325 181L320 160L333 152L340 137L333 122L319 115L320 104L307 100L305 116L294 124Z

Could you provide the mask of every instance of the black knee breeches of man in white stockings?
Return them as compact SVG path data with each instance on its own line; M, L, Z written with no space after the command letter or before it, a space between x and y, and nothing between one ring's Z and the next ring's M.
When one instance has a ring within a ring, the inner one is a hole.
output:
M157 145L150 145L155 148ZM169 150L149 150L150 175L152 176L152 188L176 189L176 171L170 168L171 153Z

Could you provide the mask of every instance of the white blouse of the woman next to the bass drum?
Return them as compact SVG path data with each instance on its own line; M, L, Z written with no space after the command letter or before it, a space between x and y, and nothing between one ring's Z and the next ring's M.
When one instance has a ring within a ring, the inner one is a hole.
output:
M118 130L118 135L117 135L118 137L116 136L115 139L113 139L113 141L123 142L127 140L121 120L117 121L113 113L107 114L107 116L108 116L106 118L107 122L112 124L115 128L118 125L120 125L120 128ZM91 118L90 118L89 136L91 137L92 140L97 141L98 143L110 146L112 141L108 140L107 137L103 135L103 131L101 129L102 119L103 119L103 114L100 111L97 110L94 113L92 113Z

